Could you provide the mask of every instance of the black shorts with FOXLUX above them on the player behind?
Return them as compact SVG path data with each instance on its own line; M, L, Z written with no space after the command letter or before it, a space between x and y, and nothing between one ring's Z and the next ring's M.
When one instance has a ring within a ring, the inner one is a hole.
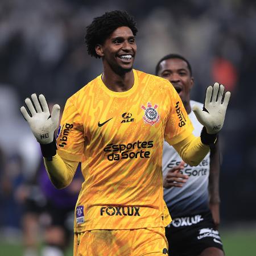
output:
M214 227L210 211L174 218L166 227L166 238L171 256L196 256L208 247L223 251L220 234Z

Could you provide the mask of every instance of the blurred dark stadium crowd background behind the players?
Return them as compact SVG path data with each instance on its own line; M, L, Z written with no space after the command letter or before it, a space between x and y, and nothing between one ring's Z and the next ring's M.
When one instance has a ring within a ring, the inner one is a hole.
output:
M255 256L255 0L1 0L0 254L23 255L19 186L31 179L40 160L19 108L34 92L63 108L101 73L101 61L86 53L85 27L115 9L137 20L135 68L154 73L162 56L180 53L192 64L193 100L203 101L213 81L232 92L221 131L220 231L226 255Z

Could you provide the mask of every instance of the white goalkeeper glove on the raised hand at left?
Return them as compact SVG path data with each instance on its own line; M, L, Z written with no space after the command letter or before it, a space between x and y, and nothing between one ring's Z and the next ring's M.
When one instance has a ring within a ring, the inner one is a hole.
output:
M52 114L50 114L46 98L43 94L40 94L39 97L37 97L34 93L31 95L31 98L34 105L30 98L26 98L25 100L30 113L27 112L27 109L24 106L20 108L20 111L28 122L28 125L30 125L30 129L36 137L36 140L40 144L49 144L53 142L54 131L59 125L60 106L57 104L54 105Z

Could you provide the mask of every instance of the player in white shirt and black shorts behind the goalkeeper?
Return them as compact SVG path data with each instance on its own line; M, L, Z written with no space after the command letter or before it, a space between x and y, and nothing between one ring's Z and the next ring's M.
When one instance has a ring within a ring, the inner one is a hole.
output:
M193 134L199 136L203 126L191 108L193 105L203 108L203 104L190 100L194 80L188 60L177 54L166 55L156 65L156 74L174 85L193 124ZM173 218L166 227L166 237L172 255L224 255L217 230L219 171L218 143L211 147L198 166L189 166L174 147L164 141L164 200Z

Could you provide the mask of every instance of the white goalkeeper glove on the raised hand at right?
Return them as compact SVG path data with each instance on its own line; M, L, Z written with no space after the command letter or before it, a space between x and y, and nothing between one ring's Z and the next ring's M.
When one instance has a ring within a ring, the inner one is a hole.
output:
M207 88L204 102L204 110L193 106L192 110L197 120L207 129L208 134L218 133L224 123L226 108L228 107L231 93L224 94L224 85L217 82Z

